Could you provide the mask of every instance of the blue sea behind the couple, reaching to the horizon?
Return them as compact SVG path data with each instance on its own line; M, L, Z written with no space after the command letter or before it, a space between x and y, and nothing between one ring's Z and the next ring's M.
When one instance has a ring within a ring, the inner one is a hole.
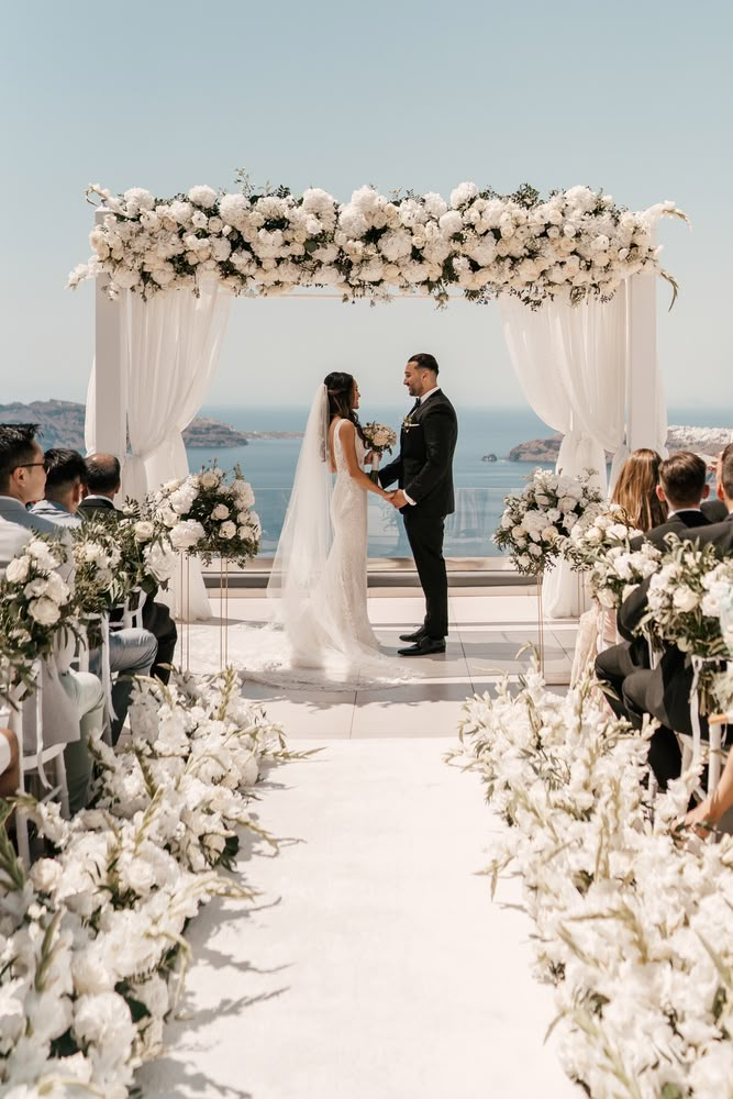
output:
M374 406L359 409L362 420L377 420L399 432L402 418L411 401L402 404ZM448 556L498 556L491 542L503 510L508 492L521 489L535 463L509 462L507 455L518 443L545 439L552 434L543 421L529 408L457 408L458 444L453 465L456 486L456 512L446 522L445 552ZM208 406L202 415L210 415L241 431L302 432L308 419L307 408ZM699 426L724 426L733 423L733 410L670 409L670 423ZM255 508L263 522L262 555L271 556L282 528L292 479L300 452L300 439L256 440L247 446L216 451L189 447L192 470L216 458L224 469L235 463L252 484ZM496 454L497 462L482 462L486 454ZM369 497L369 554L406 556L409 547L403 524L393 509L377 497Z

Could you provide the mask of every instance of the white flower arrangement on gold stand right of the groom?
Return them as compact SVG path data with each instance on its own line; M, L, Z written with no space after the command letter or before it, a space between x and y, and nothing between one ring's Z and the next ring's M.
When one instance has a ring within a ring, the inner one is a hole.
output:
M537 468L518 496L504 497L504 512L493 535L520 573L538 575L551 568L560 553L562 540L570 534L589 508L601 502L600 490L590 484L592 470L565 477Z

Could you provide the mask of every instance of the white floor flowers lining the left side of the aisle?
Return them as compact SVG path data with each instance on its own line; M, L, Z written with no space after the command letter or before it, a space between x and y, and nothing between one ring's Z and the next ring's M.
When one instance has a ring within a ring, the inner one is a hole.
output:
M0 828L0 1083L9 1099L123 1099L160 1052L189 947L214 896L248 896L231 867L247 790L285 755L280 730L243 699L233 669L211 680L140 680L126 748L91 745L92 808L73 821L30 809L56 854L26 876ZM10 806L0 802L7 818Z

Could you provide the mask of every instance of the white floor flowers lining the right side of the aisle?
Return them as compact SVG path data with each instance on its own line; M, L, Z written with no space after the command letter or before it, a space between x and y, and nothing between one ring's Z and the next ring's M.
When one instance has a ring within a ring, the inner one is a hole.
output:
M567 1074L598 1097L730 1095L733 837L675 831L692 777L652 818L651 730L630 734L588 682L558 698L532 674L464 712L459 758L510 825L488 873L523 877Z

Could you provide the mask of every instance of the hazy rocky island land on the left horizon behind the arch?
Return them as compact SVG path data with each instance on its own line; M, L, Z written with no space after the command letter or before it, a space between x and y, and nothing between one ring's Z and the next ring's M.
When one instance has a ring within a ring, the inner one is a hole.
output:
M31 401L27 404L13 401L11 404L0 404L0 423L37 423L45 449L68 446L84 452L85 414L85 406L76 401ZM251 440L301 437L302 432L237 431L236 428L209 417L197 417L184 432L186 446L221 449L246 446Z

